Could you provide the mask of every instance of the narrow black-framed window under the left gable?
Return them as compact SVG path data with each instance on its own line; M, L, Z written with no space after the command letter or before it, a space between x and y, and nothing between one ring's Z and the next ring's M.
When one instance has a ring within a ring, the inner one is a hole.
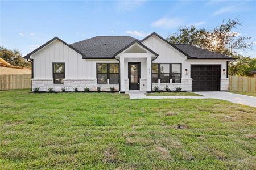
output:
M65 63L53 62L53 83L54 84L63 84L65 78Z

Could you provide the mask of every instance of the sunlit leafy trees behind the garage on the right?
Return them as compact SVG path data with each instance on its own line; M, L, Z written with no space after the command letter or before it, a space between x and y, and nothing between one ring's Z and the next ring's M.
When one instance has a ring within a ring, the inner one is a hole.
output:
M213 30L197 29L194 26L179 27L179 32L168 36L167 41L173 44L189 44L237 58L229 63L229 74L248 76L250 71L256 69L255 58L238 55L236 50L250 49L253 43L247 41L251 37L240 36L238 26L241 25L236 18L229 19L226 23L223 20Z

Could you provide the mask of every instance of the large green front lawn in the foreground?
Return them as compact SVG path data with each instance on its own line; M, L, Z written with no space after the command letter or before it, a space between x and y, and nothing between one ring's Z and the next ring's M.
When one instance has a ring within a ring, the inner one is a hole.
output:
M0 169L255 169L255 117L216 99L0 91Z

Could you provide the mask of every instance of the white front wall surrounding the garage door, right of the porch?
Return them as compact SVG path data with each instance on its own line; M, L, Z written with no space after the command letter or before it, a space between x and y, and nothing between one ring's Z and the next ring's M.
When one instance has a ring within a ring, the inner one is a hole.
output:
M191 65L221 65L221 90L228 90L228 78L226 78L226 74L222 74L222 70L227 69L226 59L187 59L187 56L155 35L148 37L148 39L144 40L142 44L159 54L158 58L152 61L152 63L182 63L182 79L180 84L158 83L152 84L152 87L158 86L163 90L163 88L168 85L171 86L171 90L175 90L176 87L181 87L183 90L191 91ZM188 69L188 74L185 74L185 69Z

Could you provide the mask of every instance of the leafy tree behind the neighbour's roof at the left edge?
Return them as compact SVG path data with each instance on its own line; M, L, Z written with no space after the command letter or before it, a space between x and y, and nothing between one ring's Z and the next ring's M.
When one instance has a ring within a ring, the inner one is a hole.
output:
M22 58L19 50L9 50L0 46L0 57L14 66L31 67L31 63Z

